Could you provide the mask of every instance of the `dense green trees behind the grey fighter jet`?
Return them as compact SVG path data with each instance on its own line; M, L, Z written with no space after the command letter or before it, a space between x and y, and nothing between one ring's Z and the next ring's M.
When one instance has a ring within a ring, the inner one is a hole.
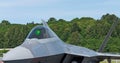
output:
M50 18L49 26L66 43L98 50L112 23L118 18L114 14L106 14L96 20L91 17L74 18L71 21ZM0 23L0 48L13 48L20 45L28 32L38 24L11 24L7 20ZM116 26L105 52L120 52L120 22Z

